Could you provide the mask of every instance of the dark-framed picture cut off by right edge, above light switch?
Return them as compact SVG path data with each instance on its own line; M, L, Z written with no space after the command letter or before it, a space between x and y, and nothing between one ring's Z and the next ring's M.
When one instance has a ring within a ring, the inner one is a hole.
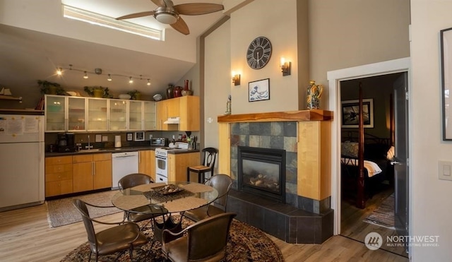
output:
M451 107L451 81L452 81L452 28L440 31L441 35L441 98L443 100L443 140L452 141L452 107Z

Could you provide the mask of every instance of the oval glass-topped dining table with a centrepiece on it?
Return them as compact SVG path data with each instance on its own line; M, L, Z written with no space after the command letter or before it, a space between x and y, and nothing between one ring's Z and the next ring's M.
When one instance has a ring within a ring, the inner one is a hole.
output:
M182 230L184 212L207 206L216 198L218 191L212 186L189 181L169 181L119 190L112 197L112 204L128 213L153 215L154 240L161 242L163 230ZM172 214L180 214L181 219L174 221Z

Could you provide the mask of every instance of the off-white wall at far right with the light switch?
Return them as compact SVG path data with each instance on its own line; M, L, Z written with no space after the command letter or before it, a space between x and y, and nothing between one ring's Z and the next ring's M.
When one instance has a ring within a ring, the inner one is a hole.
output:
M452 0L411 0L412 235L439 235L439 247L415 247L412 261L451 261L452 181L438 179L438 160L452 160L441 140L439 30L452 27Z

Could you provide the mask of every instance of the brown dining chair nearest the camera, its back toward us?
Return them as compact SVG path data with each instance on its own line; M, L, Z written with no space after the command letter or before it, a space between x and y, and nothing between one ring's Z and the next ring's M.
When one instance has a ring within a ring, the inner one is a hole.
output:
M162 253L171 261L222 261L227 256L227 239L236 215L214 215L177 233L163 230Z

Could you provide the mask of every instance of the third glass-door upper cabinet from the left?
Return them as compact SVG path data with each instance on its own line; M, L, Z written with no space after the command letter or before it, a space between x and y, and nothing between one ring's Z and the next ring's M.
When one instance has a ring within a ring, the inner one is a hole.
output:
M88 131L108 131L108 100L105 98L87 98L88 117L86 129Z

